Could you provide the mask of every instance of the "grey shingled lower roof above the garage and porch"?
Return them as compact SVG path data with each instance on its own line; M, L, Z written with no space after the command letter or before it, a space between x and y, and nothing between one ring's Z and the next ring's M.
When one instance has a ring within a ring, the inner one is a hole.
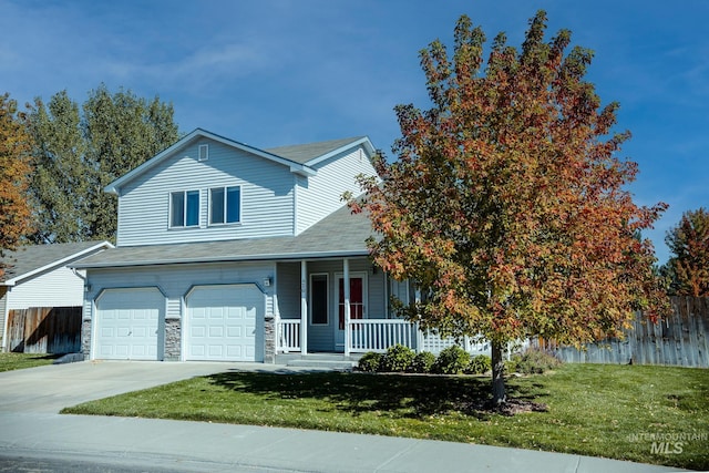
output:
M184 263L255 261L367 256L369 218L343 206L298 236L228 241L126 246L90 256L75 268L113 268Z

